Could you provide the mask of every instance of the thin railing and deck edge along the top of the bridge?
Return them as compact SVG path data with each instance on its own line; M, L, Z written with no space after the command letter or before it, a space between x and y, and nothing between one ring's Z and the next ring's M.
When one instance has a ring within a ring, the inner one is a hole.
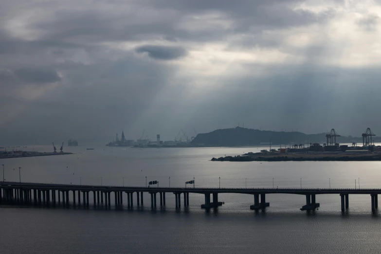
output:
M291 190L291 191L305 191L305 190L313 190L313 191L325 191L325 190L362 190L362 191L374 191L381 190L381 188L239 188L239 187L197 187L197 188L184 188L184 187L145 187L145 186L119 186L119 185L89 185L89 184L65 184L65 183L40 183L40 182L18 182L18 181L0 181L6 185L14 184L14 185L25 185L25 184L33 184L33 185L45 185L45 186L62 186L62 187L96 187L96 188L119 188L119 189L176 189L176 190L184 190L184 189L195 189L195 190ZM14 186L12 185L12 186ZM1 186L0 186L1 187Z

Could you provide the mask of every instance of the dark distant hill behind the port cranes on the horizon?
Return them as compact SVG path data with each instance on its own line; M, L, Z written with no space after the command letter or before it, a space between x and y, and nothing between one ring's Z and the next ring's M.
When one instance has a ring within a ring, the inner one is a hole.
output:
M192 145L212 145L212 146L241 146L241 145L260 145L269 144L309 144L327 142L326 133L305 134L298 131L270 131L259 129L248 129L235 127L229 129L217 129L209 133L200 133L193 139ZM338 137L338 143L358 142L362 144L362 138ZM360 145L360 144L359 144Z

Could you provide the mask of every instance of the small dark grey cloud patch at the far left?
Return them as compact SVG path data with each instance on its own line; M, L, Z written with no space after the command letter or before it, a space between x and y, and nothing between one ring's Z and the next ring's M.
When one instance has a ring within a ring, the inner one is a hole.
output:
M15 75L30 83L53 83L61 80L58 73L52 69L22 68L16 70Z

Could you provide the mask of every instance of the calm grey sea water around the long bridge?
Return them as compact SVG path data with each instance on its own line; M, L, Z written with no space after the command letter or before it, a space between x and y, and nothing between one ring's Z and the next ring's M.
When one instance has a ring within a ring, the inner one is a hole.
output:
M34 148L51 151L50 146ZM302 182L302 187L327 188L330 178L332 188L354 188L355 180L358 188L359 179L361 188L381 187L381 162L209 161L260 149L78 146L64 149L73 155L0 164L5 165L7 181L18 181L21 167L21 181L34 182L145 186L147 177L159 186L184 186L194 177L197 186L208 187L272 187L272 182L274 187L300 187ZM144 199L145 207L132 211L0 207L1 253L357 254L381 249L380 217L371 214L367 195L350 195L344 214L339 195L317 196L320 209L310 214L299 210L305 204L299 195L267 195L270 207L257 214L249 208L252 195L219 195L225 204L210 212L200 209L204 197L198 194L190 194L190 206L179 211L174 195L167 194L166 207L156 211L151 211L148 195Z

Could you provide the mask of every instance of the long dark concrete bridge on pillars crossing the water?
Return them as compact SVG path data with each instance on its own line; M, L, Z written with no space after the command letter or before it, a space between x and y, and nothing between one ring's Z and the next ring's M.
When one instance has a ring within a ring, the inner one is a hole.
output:
M114 194L115 208L123 207L124 193L127 196L127 207L133 207L133 194L136 193L137 206L143 205L143 193L150 194L151 209L157 206L156 197L159 194L160 206L165 206L165 194L172 193L175 198L175 207L181 207L181 194L183 194L184 206L189 206L189 194L197 193L205 196L205 203L201 208L210 209L221 206L218 201L220 193L249 194L254 196L252 210L265 209L270 206L266 202L268 194L296 194L305 195L306 204L300 210L315 210L320 207L316 202L316 195L339 194L341 209L345 211L349 207L349 194L370 195L371 209L374 213L378 209L378 194L381 189L320 189L320 188L181 188L181 187L141 187L141 186L105 186L105 185L72 185L50 184L36 182L0 182L0 204L26 204L38 206L69 206L72 197L73 206L89 207L89 193L93 195L93 205L111 208L111 193ZM33 195L32 195L33 194ZM81 195L82 194L82 195ZM211 200L211 195L213 200ZM57 200L58 198L58 200ZM62 202L61 202L62 198Z

